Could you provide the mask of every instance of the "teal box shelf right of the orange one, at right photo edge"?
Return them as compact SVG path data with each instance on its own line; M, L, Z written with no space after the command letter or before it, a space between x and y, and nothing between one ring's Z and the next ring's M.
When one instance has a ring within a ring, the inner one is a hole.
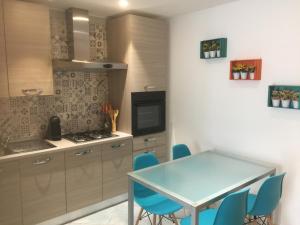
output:
M300 86L289 86L289 85L271 85L269 86L269 91L268 91L268 107L272 108L282 108L282 109L295 109L295 110L300 110L300 101L298 99L298 108L294 108L293 101L291 100L289 106L287 108L282 107L282 103L278 107L273 106L272 103L272 92L273 91L294 91L294 92L299 92L300 93Z

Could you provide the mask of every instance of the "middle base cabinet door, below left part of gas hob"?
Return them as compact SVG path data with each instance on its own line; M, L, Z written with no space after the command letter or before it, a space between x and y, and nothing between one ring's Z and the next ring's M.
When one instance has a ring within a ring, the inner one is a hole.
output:
M66 154L67 211L102 200L101 151L94 147Z

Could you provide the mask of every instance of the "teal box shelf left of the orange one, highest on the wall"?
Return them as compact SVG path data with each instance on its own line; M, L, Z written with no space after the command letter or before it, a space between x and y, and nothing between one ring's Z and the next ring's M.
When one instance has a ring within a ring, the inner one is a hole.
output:
M205 45L211 46L213 43L219 46L220 55L217 56L217 52L215 52L215 57L205 57L204 47ZM218 38L201 41L200 47L200 58L201 59L218 59L218 58L226 58L227 57L227 38Z

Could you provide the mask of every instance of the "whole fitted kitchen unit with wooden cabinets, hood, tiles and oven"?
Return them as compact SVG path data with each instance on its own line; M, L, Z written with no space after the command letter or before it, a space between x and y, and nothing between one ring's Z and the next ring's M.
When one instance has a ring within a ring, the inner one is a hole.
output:
M168 157L167 23L0 5L0 224L61 224L125 201L133 156Z

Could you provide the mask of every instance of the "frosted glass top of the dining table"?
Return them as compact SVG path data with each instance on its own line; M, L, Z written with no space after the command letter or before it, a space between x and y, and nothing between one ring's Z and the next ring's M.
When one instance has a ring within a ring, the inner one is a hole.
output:
M155 191L197 207L273 173L275 167L207 151L128 175Z

